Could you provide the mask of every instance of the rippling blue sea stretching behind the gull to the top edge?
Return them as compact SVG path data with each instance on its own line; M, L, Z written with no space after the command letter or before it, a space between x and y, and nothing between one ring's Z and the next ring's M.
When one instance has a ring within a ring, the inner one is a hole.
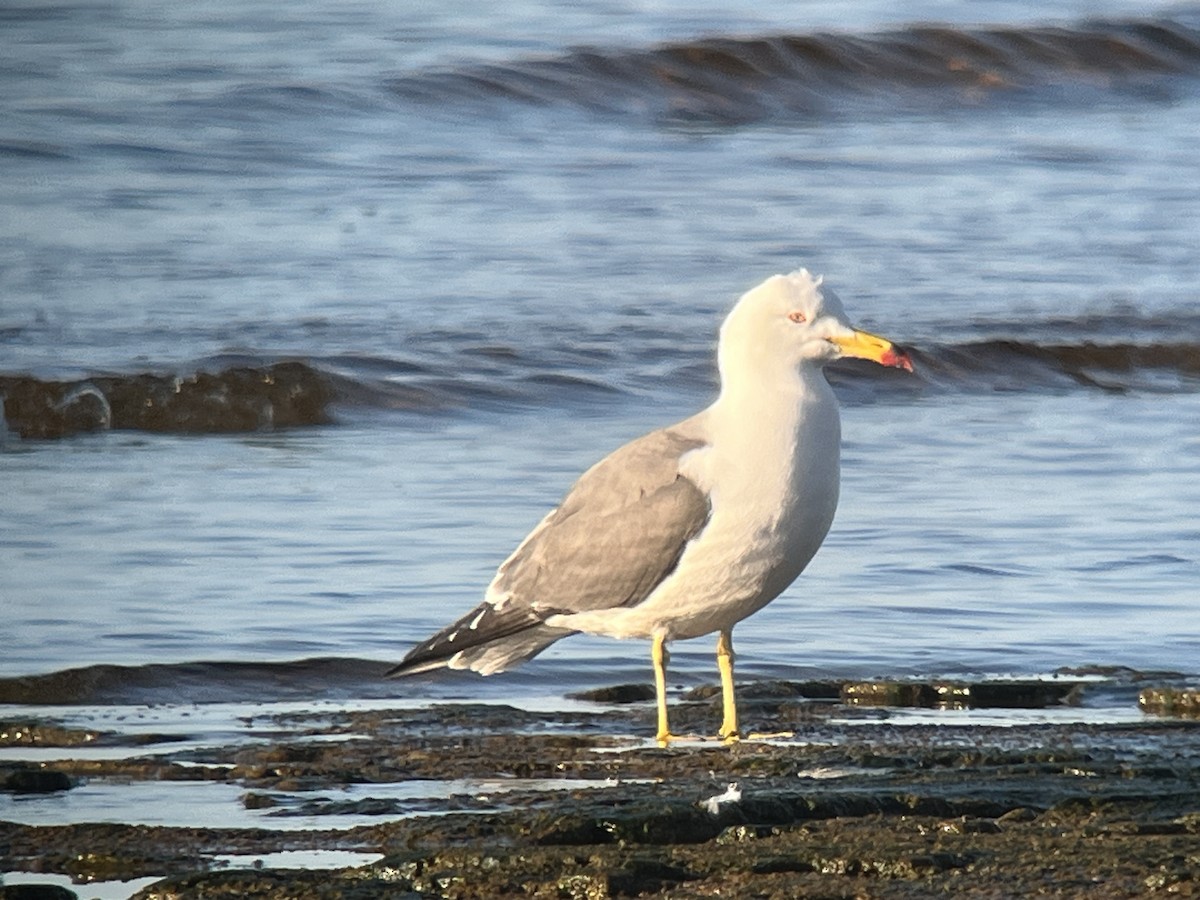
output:
M1196 673L1194 7L160 6L2 13L0 374L299 359L361 390L307 428L10 433L0 676L398 660L578 472L707 403L724 311L799 265L926 365L839 383L838 520L740 671ZM678 62L821 35L836 78ZM964 76L968 37L1009 49ZM714 677L708 642L673 660Z

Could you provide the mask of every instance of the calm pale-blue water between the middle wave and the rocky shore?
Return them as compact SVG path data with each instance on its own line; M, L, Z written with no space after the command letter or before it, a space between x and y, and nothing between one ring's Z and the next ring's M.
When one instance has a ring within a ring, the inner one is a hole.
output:
M838 522L805 576L739 626L743 671L1194 671L1189 510L1200 502L1200 458L1181 450L1196 446L1200 397L1152 406L1020 395L997 409L982 395L953 407L953 416L929 401L848 410ZM410 432L401 466L389 432L355 426L205 439L113 432L38 448L31 462L58 469L54 482L18 493L11 521L26 534L37 522L53 528L24 541L8 572L29 618L8 638L5 668L391 659L478 596L545 498L587 464L593 440L614 445L622 431L650 425L539 414L509 422ZM1158 438L1147 445L1140 436L1151 428ZM464 478L475 470L494 474ZM102 512L103 526L85 510ZM204 521L185 522L200 511ZM64 608L65 595L86 599L88 614ZM48 634L61 664L47 664ZM677 670L712 678L709 652L679 644ZM644 656L636 643L571 638L528 677L478 689L637 680ZM143 674L156 698L185 702L228 696L226 682L274 696L301 677L174 672L158 684ZM346 679L394 696L436 689L428 678L371 685L378 674Z

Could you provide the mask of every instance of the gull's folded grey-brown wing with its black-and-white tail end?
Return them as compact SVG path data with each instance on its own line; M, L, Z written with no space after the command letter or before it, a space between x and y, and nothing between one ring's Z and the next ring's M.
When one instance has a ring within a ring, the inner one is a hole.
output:
M708 497L679 474L679 457L701 446L676 426L593 466L504 560L487 599L389 674L499 672L572 634L542 624L548 616L640 604L708 521Z

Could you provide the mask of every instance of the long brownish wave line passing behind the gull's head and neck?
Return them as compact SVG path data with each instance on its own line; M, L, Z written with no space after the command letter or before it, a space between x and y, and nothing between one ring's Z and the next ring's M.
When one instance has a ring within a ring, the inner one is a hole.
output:
M1043 342L1012 337L906 348L913 374L860 360L827 368L854 402L864 395L928 390L1200 390L1200 342ZM210 360L188 376L103 374L76 380L0 376L7 427L22 438L132 430L221 434L335 420L341 408L445 413L480 409L595 408L638 394L712 392L716 376L698 358L664 361L656 347L620 360L594 349L548 350L545 359L499 347L448 349L421 361L336 356L248 365Z

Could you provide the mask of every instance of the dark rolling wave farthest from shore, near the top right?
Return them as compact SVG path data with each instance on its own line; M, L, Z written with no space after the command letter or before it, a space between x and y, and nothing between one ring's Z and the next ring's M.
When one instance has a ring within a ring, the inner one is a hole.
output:
M1109 89L1200 73L1200 30L1172 19L1075 26L923 25L876 35L706 37L650 48L577 48L395 78L421 104L570 104L738 124L812 115L847 95L950 91L964 101L1054 85Z

